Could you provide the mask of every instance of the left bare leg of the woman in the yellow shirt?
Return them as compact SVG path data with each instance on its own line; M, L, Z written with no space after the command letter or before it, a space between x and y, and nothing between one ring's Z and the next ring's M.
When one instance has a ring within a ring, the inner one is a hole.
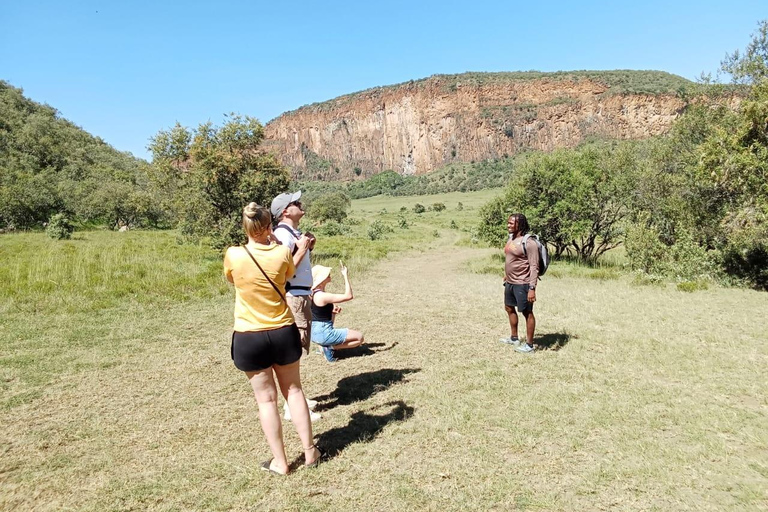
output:
M288 460L285 457L283 444L283 424L277 412L277 388L272 377L272 368L258 372L245 372L253 388L256 402L259 404L259 420L261 429L267 438L267 444L272 451L270 469L278 473L288 472Z

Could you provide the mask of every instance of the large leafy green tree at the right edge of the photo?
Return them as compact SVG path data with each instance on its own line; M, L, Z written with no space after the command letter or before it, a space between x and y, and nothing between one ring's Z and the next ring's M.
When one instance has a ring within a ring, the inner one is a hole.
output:
M721 70L746 87L703 89L645 145L627 254L646 271L768 289L768 22Z

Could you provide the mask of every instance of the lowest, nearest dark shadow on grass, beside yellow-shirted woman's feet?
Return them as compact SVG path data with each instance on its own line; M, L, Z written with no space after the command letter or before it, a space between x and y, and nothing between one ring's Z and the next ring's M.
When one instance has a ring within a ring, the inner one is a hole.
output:
M377 409L389 408L385 414L371 414ZM413 416L413 407L402 400L387 402L367 411L352 413L349 423L344 427L332 428L320 434L317 444L323 447L329 457L333 457L352 443L367 443L376 438L384 427L395 421L405 421Z

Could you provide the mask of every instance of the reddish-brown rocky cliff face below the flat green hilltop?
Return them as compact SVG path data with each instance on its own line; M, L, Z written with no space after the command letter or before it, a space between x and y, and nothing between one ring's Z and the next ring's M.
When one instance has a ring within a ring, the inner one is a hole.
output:
M266 125L266 142L299 178L423 174L454 161L573 147L589 136L658 135L684 106L671 92L610 89L579 76L465 83L436 76L285 113Z

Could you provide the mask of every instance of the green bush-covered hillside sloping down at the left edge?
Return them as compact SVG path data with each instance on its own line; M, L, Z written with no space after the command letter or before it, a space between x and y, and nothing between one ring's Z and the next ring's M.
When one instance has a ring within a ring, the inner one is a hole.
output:
M0 229L39 228L55 213L157 224L147 167L0 80Z

